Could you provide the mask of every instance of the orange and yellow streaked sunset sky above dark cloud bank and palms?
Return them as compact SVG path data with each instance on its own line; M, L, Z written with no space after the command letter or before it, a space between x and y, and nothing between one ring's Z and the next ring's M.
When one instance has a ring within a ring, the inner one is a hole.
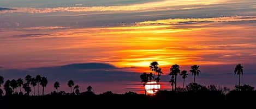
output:
M29 68L88 62L133 75L158 61L165 74L173 64L200 65L202 84L232 86L242 63L246 84L256 85L248 80L256 77L255 35L255 0L0 0L0 66L8 79ZM221 74L230 79L219 82ZM119 86L134 88L127 83ZM120 87L114 92L127 91Z

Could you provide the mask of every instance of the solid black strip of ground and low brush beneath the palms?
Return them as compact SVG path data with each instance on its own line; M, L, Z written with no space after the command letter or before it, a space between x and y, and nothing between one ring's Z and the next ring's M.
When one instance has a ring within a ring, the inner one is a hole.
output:
M125 94L84 93L81 95L48 94L45 96L5 95L0 97L0 108L157 108L157 107L201 107L207 106L254 106L255 91L170 92L160 91L146 96L128 92Z

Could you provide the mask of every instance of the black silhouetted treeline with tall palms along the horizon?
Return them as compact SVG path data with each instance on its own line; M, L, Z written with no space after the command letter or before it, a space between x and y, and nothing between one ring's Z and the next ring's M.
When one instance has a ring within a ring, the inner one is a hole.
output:
M159 84L160 75L163 74L162 69L159 68L158 62L156 61L151 63L150 69L152 72L142 73L140 75L141 82L144 86L149 81L156 81ZM112 104L112 106L116 106L118 103L123 105L133 104L147 107L148 104L156 104L156 102L171 102L172 104L184 104L184 102L193 102L193 104L198 104L199 102L208 102L211 105L223 105L224 102L227 104L229 101L247 101L249 99L256 98L256 91L253 86L246 84L240 85L240 75L243 74L243 67L240 64L234 68L234 73L239 75L239 84L235 85L232 90L227 87L218 87L215 85L204 86L196 83L195 77L201 73L199 66L197 65L192 66L189 72L193 76L193 82L186 85L185 80L188 77L187 70L181 70L179 65L171 66L169 73L169 82L172 87L171 91L160 90L152 95L147 95L146 89L145 94L138 94L135 92L114 94L110 91L95 94L92 86L88 86L87 91L82 92L80 91L80 86L76 85L73 80L67 81L67 86L70 87L70 92L59 91L61 84L56 81L53 84L55 91L45 94L44 89L48 84L46 77L37 75L33 78L31 75L27 75L24 80L19 78L17 80L6 80L4 82L3 76L0 76L0 102L1 104L4 104L4 106L11 106L10 104L20 104L22 106L22 104L28 103L40 106L56 106L56 102L61 102L61 105L57 106L65 107L68 104L84 105L91 104L93 102L107 102L108 104ZM178 82L177 78L183 79L183 87L178 87L176 85ZM2 86L4 90L2 90ZM38 88L37 94L35 93L36 86ZM31 87L33 87L33 93L31 93ZM41 87L41 94L39 93L39 87ZM151 105L148 107L151 107Z

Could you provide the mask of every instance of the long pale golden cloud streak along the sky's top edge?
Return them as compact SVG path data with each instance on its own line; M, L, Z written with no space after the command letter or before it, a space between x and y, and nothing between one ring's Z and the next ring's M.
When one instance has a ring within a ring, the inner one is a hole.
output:
M158 1L158 2L148 2L132 5L117 5L117 6L101 6L101 7L57 7L57 8L13 8L15 10L5 10L0 12L13 13L13 12L24 12L24 13L50 13L50 12L93 12L93 11L149 11L149 10L184 10L184 9L198 9L198 7L191 7L190 5L195 4L216 4L221 3L219 0L212 1L202 1L202 0L190 0L187 2L185 0L178 1ZM188 6L188 7L176 7L176 6Z

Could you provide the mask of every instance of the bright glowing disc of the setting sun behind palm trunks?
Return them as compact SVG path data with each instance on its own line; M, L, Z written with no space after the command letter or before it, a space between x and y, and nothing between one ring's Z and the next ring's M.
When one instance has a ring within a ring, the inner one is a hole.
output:
M156 94L160 89L160 84L156 81L150 81L146 83L145 89L148 94Z

